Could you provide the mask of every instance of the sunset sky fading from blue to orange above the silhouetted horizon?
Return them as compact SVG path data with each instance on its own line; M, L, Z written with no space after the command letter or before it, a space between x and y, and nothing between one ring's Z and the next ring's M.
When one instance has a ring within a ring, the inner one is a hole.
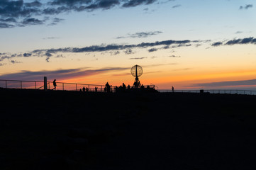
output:
M0 79L255 89L253 0L0 0Z

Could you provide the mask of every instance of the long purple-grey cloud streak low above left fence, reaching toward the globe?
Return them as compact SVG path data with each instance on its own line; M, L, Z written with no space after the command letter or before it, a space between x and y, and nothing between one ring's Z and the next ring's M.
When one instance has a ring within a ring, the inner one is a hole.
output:
M28 70L23 70L21 72L3 74L0 79L17 79L17 80L31 80L38 81L42 80L43 77L48 77L48 79L71 79L74 77L86 77L95 74L104 74L106 72L118 72L130 67L104 67L101 69L58 69L52 71L38 71L30 72Z

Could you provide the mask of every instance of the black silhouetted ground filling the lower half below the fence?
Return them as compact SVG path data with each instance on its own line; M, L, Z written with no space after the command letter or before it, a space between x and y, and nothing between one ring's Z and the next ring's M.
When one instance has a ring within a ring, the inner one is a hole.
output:
M0 169L256 169L256 96L0 89Z

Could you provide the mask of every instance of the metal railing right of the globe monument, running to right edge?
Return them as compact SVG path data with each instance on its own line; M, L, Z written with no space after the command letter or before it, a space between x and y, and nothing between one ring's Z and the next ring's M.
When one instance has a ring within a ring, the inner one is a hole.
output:
M158 90L163 93L172 93L170 89L160 89ZM174 90L175 93L200 93L200 90ZM256 91L252 90L235 90L235 89L207 89L204 93L210 94L246 94L246 95L256 95Z

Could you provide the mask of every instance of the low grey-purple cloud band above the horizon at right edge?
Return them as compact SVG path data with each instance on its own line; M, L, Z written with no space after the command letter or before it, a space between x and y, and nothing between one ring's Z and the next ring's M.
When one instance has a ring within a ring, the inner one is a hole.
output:
M255 86L256 79L241 81L219 81L204 84L192 84L191 86L217 87L217 86Z

